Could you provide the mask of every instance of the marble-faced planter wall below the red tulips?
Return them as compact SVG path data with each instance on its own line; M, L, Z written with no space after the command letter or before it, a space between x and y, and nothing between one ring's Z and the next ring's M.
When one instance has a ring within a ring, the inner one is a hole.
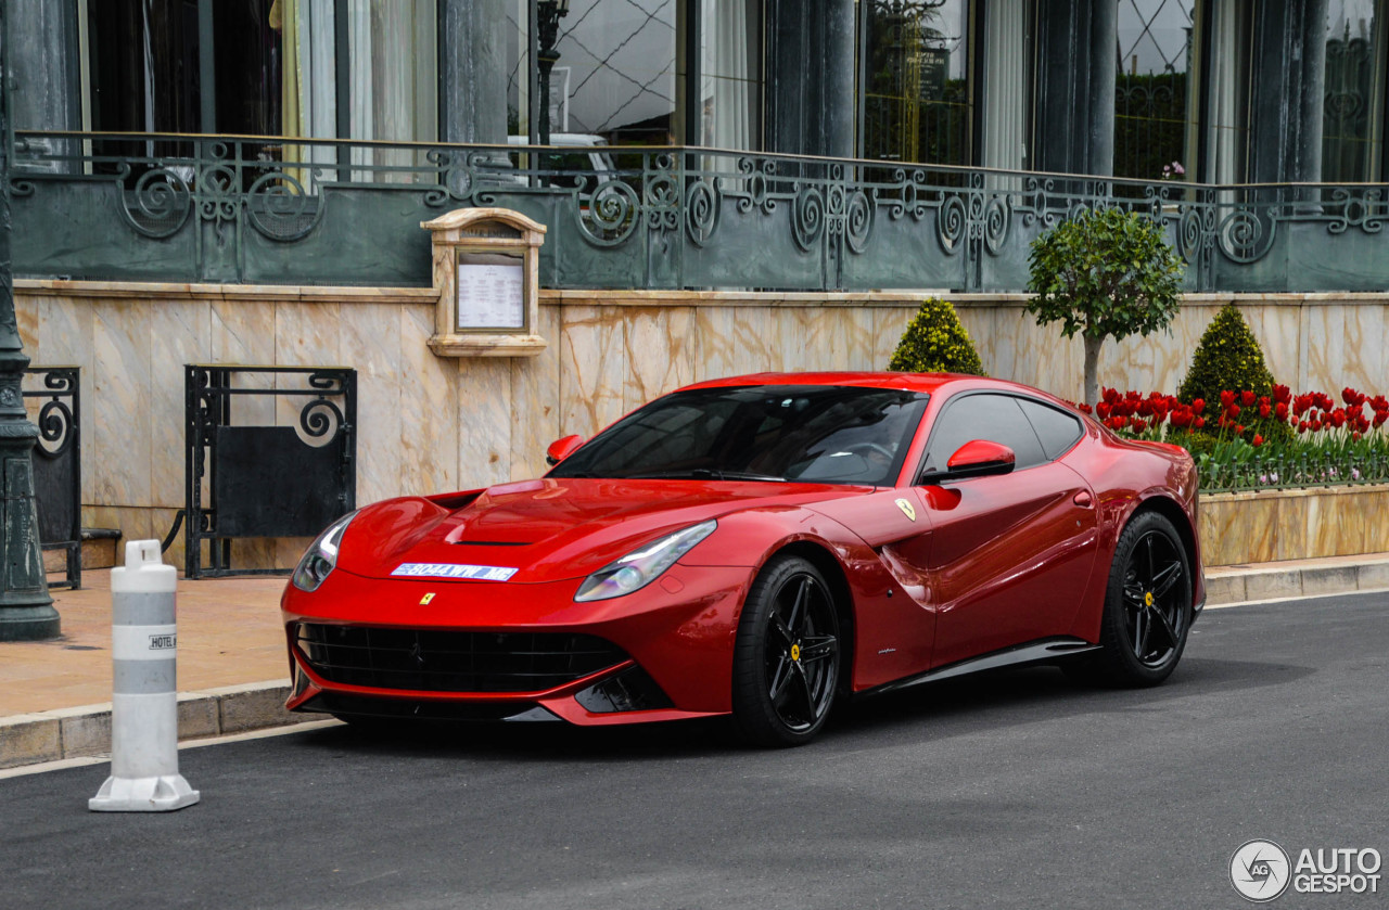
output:
M1200 499L1207 565L1389 552L1389 483Z

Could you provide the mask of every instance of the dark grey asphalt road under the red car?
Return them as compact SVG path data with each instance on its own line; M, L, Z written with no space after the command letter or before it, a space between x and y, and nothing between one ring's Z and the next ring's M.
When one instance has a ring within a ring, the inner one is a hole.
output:
M1240 907L1243 842L1389 856L1389 595L1210 610L1167 685L1053 668L870 700L814 745L721 725L189 749L203 802L0 781L0 907ZM1389 868L1382 870L1382 874ZM1275 907L1389 906L1385 893Z

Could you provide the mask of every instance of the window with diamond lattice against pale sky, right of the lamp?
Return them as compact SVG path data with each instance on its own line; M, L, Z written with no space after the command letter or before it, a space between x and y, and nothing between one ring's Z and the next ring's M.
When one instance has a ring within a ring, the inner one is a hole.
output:
M550 72L550 132L671 144L675 0L571 0Z

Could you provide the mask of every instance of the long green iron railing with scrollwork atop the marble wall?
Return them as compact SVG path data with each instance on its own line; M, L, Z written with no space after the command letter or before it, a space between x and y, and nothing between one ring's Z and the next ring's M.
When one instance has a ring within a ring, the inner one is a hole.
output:
M549 225L549 288L1021 290L1042 231L1121 206L1164 226L1188 290L1389 288L1383 183L1213 186L669 147L15 142L14 268L32 278L424 286L419 222L501 206Z

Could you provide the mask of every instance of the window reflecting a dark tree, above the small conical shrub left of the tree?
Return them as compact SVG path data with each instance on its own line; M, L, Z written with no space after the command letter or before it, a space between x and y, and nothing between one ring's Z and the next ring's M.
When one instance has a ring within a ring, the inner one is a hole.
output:
M970 164L968 0L860 0L863 157Z

